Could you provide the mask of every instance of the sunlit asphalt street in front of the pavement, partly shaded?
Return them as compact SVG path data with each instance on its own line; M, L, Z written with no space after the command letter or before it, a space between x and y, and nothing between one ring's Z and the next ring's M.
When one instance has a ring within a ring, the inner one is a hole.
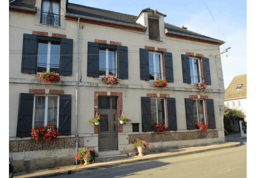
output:
M246 140L242 146L195 153L186 156L160 159L128 166L105 168L66 178L97 177L97 178L243 178L246 170ZM63 177L63 176L62 176Z

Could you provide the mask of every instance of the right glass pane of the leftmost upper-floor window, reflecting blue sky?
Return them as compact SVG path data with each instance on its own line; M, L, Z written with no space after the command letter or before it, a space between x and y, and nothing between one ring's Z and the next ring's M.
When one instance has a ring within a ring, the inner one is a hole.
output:
M51 42L50 71L59 73L60 66L60 45Z

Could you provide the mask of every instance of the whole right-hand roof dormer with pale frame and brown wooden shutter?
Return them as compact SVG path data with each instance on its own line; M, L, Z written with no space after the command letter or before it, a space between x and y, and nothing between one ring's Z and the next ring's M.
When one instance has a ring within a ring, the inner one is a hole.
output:
M150 40L163 41L165 37L165 26L163 18L165 14L150 8L141 10L140 15L135 20L136 23L147 26L146 38Z

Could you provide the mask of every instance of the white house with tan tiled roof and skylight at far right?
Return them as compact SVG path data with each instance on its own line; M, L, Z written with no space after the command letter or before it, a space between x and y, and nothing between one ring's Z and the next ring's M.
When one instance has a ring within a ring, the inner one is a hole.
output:
M246 115L247 107L247 74L242 74L235 76L227 89L225 89L225 106L229 108L241 109ZM247 122L247 117L245 117L244 122ZM225 127L228 130L240 132L242 127L238 120L231 120L230 123L226 122Z

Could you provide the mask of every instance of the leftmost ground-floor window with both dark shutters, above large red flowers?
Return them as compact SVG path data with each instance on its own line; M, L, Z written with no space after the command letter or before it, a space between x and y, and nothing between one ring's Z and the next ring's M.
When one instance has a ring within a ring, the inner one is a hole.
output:
M30 137L31 128L46 124L56 125L62 135L71 134L71 95L21 93L16 136Z

